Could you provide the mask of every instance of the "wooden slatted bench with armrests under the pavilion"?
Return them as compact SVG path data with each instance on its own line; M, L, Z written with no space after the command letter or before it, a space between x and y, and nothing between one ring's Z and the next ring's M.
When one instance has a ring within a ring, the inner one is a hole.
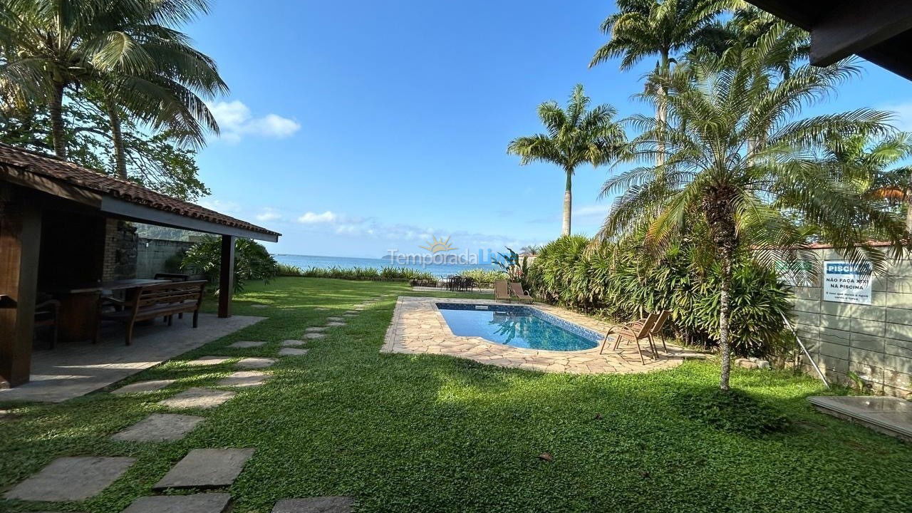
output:
M127 325L127 345L130 345L133 340L133 326L139 320L163 317L168 319L168 325L171 326L171 318L174 314L193 312L193 328L196 328L205 289L205 280L144 285L131 291L132 294L124 302L123 309L101 312L100 318L125 323ZM100 325L99 322L99 330ZM95 340L98 340L98 334L96 334Z

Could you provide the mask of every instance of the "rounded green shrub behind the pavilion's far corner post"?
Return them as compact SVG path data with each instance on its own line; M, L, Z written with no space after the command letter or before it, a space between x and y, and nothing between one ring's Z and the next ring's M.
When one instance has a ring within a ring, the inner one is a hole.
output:
M209 283L219 281L219 270L222 267L222 239L216 236L205 236L187 250L181 267L194 274L202 274ZM275 258L266 251L265 246L250 239L239 238L234 242L234 291L244 290L244 282L251 279L262 279L265 282L278 272Z

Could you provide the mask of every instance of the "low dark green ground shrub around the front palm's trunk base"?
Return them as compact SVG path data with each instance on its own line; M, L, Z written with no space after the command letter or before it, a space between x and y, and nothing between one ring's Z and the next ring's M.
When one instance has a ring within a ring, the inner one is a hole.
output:
M771 406L737 390L710 388L677 393L674 398L680 414L725 433L759 437L789 425L788 419Z

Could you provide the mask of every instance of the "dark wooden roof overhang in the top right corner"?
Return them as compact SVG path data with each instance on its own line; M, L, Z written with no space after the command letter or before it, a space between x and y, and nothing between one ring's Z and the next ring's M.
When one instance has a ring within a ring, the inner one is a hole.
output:
M811 33L811 64L829 66L856 54L912 79L909 0L747 0Z

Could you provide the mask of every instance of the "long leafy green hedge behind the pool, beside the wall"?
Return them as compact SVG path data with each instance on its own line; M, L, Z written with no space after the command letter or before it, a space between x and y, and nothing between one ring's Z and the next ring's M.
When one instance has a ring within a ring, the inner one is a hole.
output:
M687 247L656 261L636 245L594 246L584 236L565 236L542 248L527 281L538 298L618 321L668 309L670 329L679 339L716 345L718 268L696 262ZM731 293L733 351L762 355L787 340L782 314L788 312L790 293L772 271L741 257Z

